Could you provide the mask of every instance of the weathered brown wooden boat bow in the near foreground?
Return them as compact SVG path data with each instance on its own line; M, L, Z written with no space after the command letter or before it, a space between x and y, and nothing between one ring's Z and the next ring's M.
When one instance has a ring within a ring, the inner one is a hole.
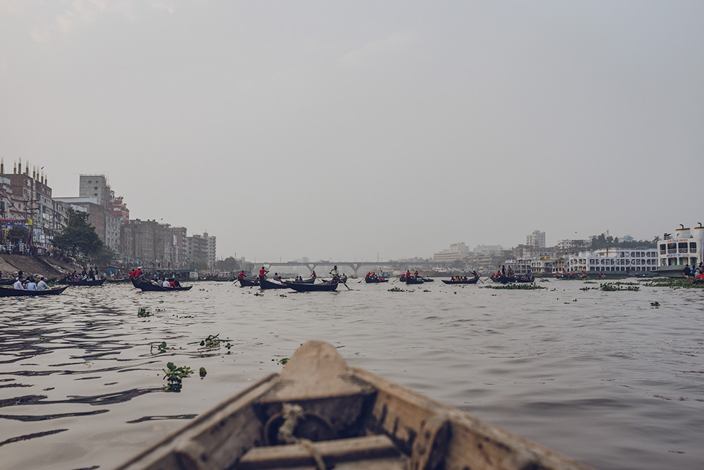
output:
M470 414L302 345L265 376L116 470L589 470Z

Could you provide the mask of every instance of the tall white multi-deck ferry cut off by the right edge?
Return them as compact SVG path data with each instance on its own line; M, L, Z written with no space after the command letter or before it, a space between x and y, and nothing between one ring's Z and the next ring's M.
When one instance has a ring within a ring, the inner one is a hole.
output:
M684 267L696 267L704 260L704 227L701 222L694 229L685 228L665 234L658 242L658 275L684 277Z

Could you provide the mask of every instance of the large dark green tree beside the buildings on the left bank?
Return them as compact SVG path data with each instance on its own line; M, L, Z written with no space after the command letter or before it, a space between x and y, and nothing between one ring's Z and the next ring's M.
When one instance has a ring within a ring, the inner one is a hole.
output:
M115 254L105 246L88 222L87 212L69 209L66 212L66 227L51 242L73 258L107 264Z

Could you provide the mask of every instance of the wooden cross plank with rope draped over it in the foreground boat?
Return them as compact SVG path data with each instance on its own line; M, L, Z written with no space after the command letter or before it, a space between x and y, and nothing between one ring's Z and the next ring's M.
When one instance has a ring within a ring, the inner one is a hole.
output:
M401 455L391 439L384 435L325 440L313 443L313 447L326 464L335 464L335 468L338 468L340 462L350 460L356 460L359 465L361 460L372 461ZM292 466L310 466L312 461L310 452L301 444L254 447L241 458L237 469L289 469Z

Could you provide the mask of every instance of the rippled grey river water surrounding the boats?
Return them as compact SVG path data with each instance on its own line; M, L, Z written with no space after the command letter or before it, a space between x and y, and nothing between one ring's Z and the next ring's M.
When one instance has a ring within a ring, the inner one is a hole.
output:
M0 467L111 469L321 339L353 366L598 469L703 468L704 291L539 285L113 284L0 298ZM210 335L228 341L203 350ZM196 371L180 393L165 391L167 362Z

